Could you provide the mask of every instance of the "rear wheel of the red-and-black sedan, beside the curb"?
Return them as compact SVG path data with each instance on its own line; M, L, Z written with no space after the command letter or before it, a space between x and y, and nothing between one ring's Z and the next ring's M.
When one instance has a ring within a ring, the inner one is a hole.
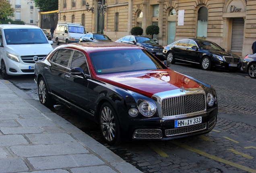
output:
M55 104L55 101L50 97L45 80L43 77L39 79L38 82L38 97L41 104L45 107L52 107Z

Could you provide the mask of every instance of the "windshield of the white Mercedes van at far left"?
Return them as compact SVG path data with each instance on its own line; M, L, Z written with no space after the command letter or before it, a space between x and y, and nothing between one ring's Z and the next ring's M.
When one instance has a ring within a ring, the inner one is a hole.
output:
M47 44L41 29L5 29L6 44Z

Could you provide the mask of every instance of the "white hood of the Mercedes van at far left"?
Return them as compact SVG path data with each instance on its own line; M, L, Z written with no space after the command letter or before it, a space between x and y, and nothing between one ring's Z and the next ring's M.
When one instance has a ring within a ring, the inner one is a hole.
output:
M53 48L52 45L49 44L9 44L4 45L5 50L11 54L15 54L18 56L25 55L45 55L50 53Z

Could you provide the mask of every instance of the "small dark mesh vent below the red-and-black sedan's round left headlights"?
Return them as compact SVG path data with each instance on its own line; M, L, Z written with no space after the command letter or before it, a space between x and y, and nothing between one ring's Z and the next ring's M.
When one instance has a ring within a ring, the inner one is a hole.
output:
M137 129L133 138L136 139L161 139L162 131L160 129Z

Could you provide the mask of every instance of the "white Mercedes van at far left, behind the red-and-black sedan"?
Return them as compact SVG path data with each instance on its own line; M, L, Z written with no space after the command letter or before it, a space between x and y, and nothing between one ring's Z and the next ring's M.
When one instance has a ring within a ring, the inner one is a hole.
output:
M37 26L0 24L2 77L34 74L35 62L53 50L51 44L53 42Z

